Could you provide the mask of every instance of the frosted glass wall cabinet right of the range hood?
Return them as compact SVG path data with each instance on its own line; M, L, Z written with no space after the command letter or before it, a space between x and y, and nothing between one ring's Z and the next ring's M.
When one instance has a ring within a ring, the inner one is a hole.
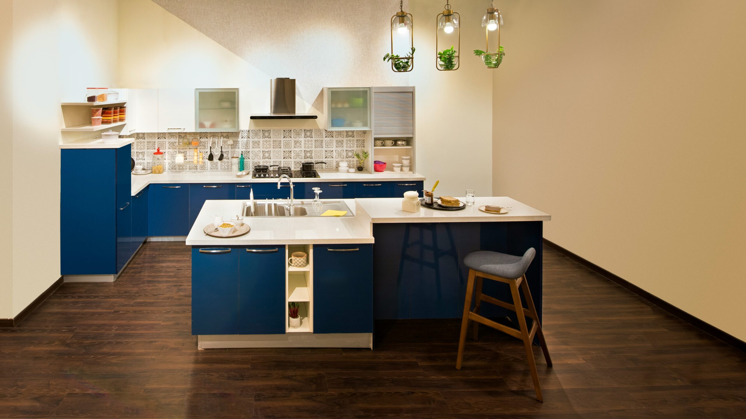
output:
M326 129L371 129L371 88L324 88Z

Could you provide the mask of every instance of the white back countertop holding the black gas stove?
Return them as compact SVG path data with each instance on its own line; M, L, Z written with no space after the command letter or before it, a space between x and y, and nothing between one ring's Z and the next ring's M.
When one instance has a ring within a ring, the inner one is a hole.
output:
M293 183L299 182L366 182L366 181L395 181L395 180L424 180L419 173L340 173L319 172L320 178L292 178ZM184 173L161 173L147 175L132 175L132 195L142 191L151 183L277 183L278 179L252 179L251 174L242 178L236 177L231 172L207 171L207 172L184 172Z

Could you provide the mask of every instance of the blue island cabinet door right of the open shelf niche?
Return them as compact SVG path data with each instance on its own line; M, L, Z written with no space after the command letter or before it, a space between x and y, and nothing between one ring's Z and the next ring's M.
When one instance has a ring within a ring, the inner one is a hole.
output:
M313 246L313 333L373 332L373 245Z

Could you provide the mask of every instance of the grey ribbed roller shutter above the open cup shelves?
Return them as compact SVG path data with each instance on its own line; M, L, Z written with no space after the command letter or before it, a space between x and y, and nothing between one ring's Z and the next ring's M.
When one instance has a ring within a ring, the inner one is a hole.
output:
M414 88L373 88L373 136L414 136Z

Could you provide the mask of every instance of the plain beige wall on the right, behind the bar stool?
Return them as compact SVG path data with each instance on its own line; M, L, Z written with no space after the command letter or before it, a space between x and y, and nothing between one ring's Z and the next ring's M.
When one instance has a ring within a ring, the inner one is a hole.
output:
M746 340L746 2L505 1L496 195Z

